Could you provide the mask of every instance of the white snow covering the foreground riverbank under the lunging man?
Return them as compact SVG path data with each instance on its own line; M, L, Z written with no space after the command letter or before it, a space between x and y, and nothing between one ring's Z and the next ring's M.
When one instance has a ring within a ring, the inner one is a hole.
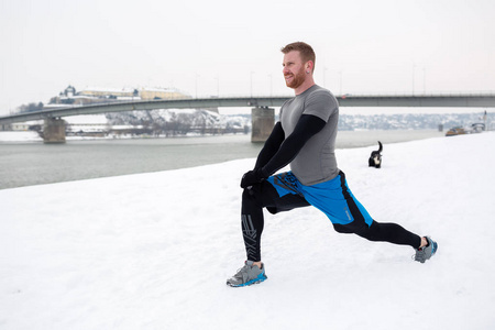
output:
M254 160L0 190L1 329L494 329L495 133L338 150L378 221L413 249L333 231L314 208L266 215L268 279L245 258L239 182Z

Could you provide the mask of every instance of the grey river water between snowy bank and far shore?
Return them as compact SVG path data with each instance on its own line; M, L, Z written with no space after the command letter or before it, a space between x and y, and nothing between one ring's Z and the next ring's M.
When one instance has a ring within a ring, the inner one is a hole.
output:
M65 144L23 141L13 135L15 132L0 132L0 189L254 158L263 146L251 143L250 135L68 140ZM442 135L433 130L341 131L337 148Z

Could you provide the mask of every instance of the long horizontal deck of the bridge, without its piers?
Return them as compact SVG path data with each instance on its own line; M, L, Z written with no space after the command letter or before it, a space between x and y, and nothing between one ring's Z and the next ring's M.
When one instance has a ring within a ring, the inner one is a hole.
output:
M220 107L279 107L293 96L239 96L207 98L170 98L160 100L116 100L90 105L67 105L67 107L46 108L40 111L15 113L0 117L0 124L25 122L47 118L62 118L78 114L154 110L154 109L200 109ZM495 92L464 94L397 94L397 95L355 95L337 96L341 107L495 107Z

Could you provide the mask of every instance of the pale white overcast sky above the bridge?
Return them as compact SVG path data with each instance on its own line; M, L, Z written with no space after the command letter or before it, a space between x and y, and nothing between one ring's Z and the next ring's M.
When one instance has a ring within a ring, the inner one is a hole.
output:
M68 85L290 95L280 47L336 95L495 91L495 1L0 0L0 116Z

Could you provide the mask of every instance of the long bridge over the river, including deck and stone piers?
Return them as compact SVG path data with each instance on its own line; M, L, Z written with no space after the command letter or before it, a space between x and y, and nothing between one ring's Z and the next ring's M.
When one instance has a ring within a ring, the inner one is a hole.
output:
M252 141L262 142L270 135L274 124L274 109L280 107L292 96L276 97L211 97L180 98L148 101L122 101L111 103L92 103L53 108L41 111L16 113L0 117L1 124L44 120L44 141L46 143L65 142L65 124L63 117L97 114L134 110L154 109L205 109L205 108L241 108L252 109ZM495 107L495 94L458 94L458 95L342 95L338 96L340 107Z

